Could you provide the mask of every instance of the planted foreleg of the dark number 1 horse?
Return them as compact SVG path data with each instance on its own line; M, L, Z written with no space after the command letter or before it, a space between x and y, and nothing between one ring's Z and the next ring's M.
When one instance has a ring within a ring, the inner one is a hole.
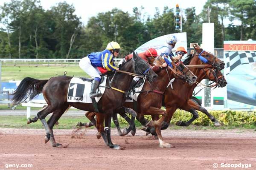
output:
M111 119L112 119L112 115L107 113L107 114L104 115L104 119L105 119L104 133L107 135L108 146L110 148L117 149L117 150L121 149L118 144L113 144L112 141L111 141Z

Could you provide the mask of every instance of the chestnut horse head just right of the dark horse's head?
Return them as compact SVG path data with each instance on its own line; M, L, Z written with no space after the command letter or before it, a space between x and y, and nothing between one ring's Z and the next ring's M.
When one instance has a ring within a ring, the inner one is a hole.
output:
M189 70L189 68L186 67L186 65L183 64L181 61L177 61L175 59L172 59L172 68L174 72L174 75L176 78L182 79L184 82L188 82L189 85L193 85L196 82L197 77L195 74L192 73L192 71ZM162 57L157 57L154 61L156 65L162 65L163 62L166 62L165 59ZM170 66L168 66L169 69L171 69Z

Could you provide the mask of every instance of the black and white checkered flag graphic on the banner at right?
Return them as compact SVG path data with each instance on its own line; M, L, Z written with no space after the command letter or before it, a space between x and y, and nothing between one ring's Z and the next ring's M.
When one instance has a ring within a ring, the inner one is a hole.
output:
M224 54L226 75L230 74L230 71L232 71L238 65L256 62L256 51L224 51Z

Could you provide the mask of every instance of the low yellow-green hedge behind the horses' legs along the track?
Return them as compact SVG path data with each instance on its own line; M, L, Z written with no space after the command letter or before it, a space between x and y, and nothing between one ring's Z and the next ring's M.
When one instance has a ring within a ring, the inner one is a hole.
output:
M242 125L256 125L256 111L209 111L222 125L242 126ZM212 121L204 113L198 111L198 119L192 123L192 125L211 125ZM151 120L151 116L145 115L145 118ZM192 114L183 110L175 111L172 116L171 124L176 122L188 121L192 118ZM126 124L125 119L119 116L119 123ZM140 125L139 122L136 124Z

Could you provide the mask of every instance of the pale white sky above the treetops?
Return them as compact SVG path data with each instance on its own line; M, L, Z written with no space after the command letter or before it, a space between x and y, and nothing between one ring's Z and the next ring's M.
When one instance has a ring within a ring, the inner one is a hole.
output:
M11 0L0 0L0 6L9 2ZM64 0L41 0L41 6L47 10L59 2L64 2ZM156 7L162 12L164 6L175 8L176 4L179 4L181 9L195 6L196 14L200 14L207 0L66 0L66 2L70 5L73 4L76 9L75 14L81 17L81 21L86 25L90 17L96 16L99 12L110 11L115 7L133 14L134 7L143 6L143 12L146 13L145 19L148 15L154 17Z

